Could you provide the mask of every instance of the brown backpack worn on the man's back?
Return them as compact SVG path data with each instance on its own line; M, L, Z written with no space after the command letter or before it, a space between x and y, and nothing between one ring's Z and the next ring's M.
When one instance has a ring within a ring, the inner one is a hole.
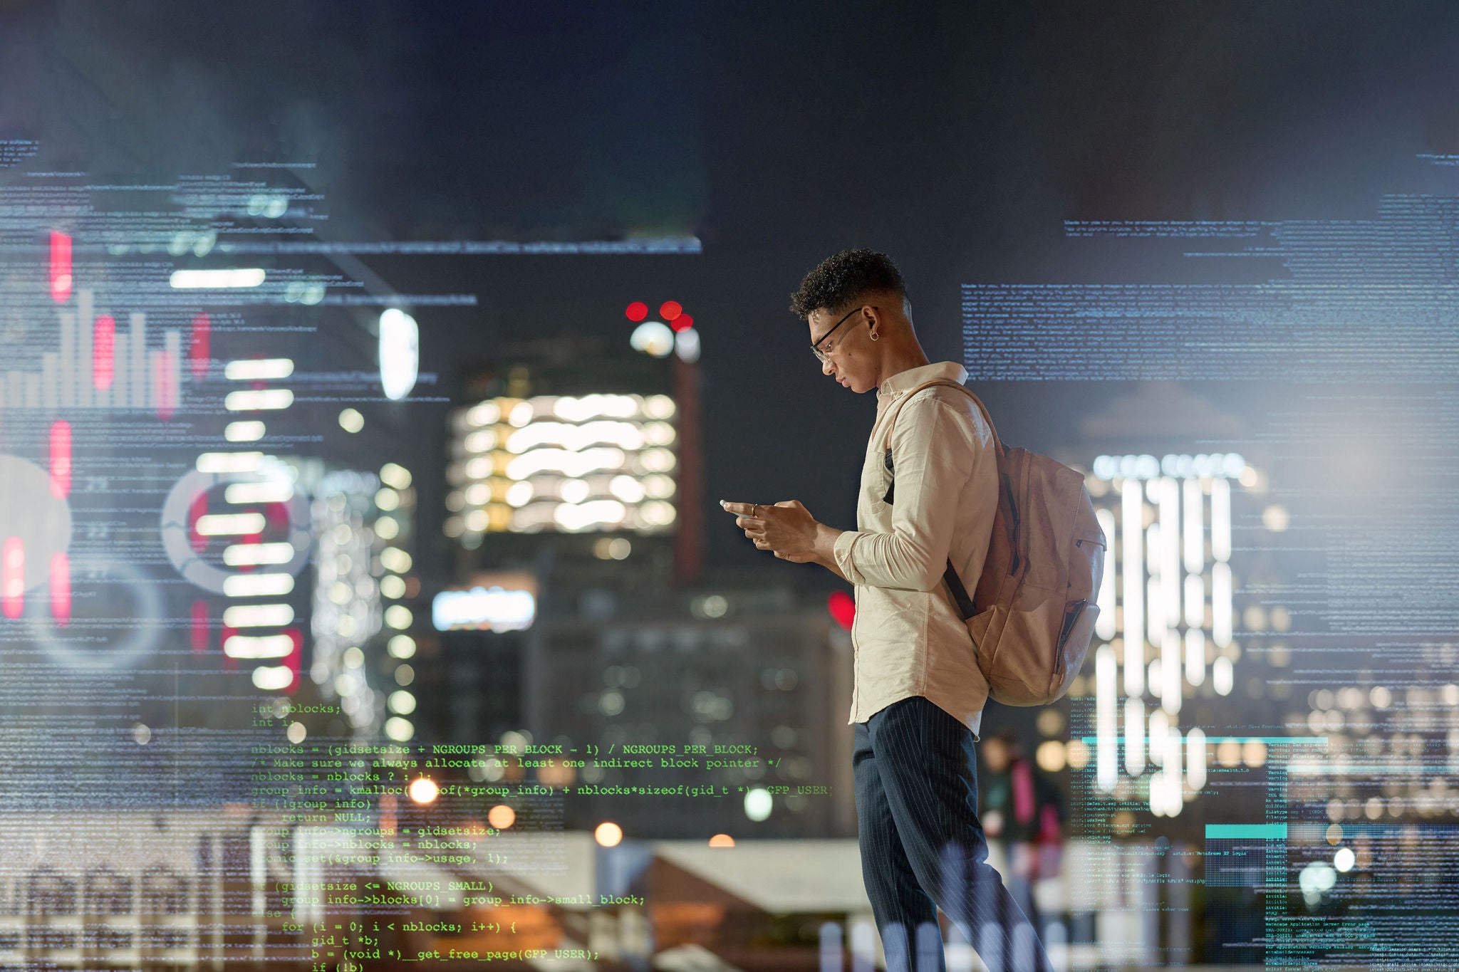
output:
M896 412L932 385L948 385L978 402L998 456L998 513L978 590L967 596L951 560L943 579L967 624L992 699L1048 705L1069 691L1099 615L1094 596L1109 544L1094 503L1075 469L1004 446L982 399L948 379L924 382L897 402L887 423L889 469Z

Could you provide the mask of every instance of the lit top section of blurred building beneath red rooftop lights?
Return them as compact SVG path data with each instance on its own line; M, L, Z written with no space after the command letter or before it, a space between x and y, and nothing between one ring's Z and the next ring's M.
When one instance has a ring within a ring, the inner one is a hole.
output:
M449 417L457 571L524 564L623 583L699 571L697 367L572 338L503 348Z

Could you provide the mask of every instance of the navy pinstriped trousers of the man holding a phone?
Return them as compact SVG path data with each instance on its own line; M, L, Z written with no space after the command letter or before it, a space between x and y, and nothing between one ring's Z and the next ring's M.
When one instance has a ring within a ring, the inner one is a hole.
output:
M921 695L855 724L861 874L887 972L944 972L937 908L992 972L1052 972L988 864L973 733Z

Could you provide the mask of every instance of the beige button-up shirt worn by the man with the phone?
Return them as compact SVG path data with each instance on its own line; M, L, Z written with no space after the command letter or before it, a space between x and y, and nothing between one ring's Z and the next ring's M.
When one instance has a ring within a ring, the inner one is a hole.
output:
M967 370L940 361L881 382L856 529L836 538L836 564L856 593L849 721L864 723L891 702L922 695L976 737L988 681L943 571L951 557L969 596L978 587L998 509L992 430L967 395L945 385L925 388L897 414L894 485L886 468L891 407L934 377L964 383Z

